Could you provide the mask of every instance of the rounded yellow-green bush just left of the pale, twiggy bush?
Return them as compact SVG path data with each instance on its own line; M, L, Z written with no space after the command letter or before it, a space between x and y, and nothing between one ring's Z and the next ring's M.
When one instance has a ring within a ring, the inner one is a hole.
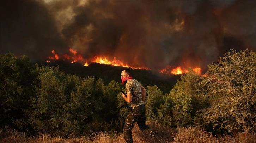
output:
M167 122L169 125L188 127L195 124L197 111L208 105L207 96L204 95L204 85L200 84L201 80L200 75L189 69L189 72L181 76L181 80L173 86L167 95L166 105L161 107L163 113L169 114L170 121ZM172 111L166 111L166 108Z

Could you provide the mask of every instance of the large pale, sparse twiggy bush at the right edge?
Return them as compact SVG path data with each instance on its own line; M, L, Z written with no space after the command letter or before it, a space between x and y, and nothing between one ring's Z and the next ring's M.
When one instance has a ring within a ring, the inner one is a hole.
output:
M205 124L230 133L256 131L255 59L255 52L233 51L209 65L202 82L211 99L211 107L201 112Z

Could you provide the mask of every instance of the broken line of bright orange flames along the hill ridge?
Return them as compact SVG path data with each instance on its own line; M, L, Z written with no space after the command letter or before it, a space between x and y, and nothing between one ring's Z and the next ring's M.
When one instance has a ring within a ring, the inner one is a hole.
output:
M54 50L51 51L53 53L53 56L48 57L48 59L51 60L58 60L58 59L63 59L63 60L68 60L71 61L71 63L80 61L84 62L84 66L89 66L90 63L100 63L100 64L108 64L108 65L113 65L113 66L122 66L122 67L130 67L133 69L146 69L149 70L147 67L135 67L135 66L130 66L127 63L123 63L120 60L117 60L116 57L114 57L113 60L109 60L106 58L106 56L101 57L101 56L95 56L92 59L84 59L84 57L81 54L78 54L76 50L69 48L69 52L72 53L72 56L69 56L68 54L63 54L59 57L58 54L55 53ZM46 60L47 62L51 62L50 60ZM201 74L201 68L195 67L192 69L195 73ZM165 69L159 70L160 73L167 73L167 74L184 74L188 72L188 69L182 68L182 67L175 67L173 68L172 66L167 66Z

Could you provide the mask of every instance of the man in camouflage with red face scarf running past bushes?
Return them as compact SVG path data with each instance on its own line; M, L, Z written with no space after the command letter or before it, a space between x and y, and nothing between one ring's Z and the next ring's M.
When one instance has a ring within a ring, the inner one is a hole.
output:
M153 137L156 141L163 143L154 131L148 125L146 125L146 109L144 100L146 97L146 89L131 76L129 69L123 69L121 72L122 84L126 83L125 92L127 97L122 93L124 100L128 103L132 103L131 111L126 118L123 134L127 143L133 143L132 128L135 122L137 122L141 131L147 135Z

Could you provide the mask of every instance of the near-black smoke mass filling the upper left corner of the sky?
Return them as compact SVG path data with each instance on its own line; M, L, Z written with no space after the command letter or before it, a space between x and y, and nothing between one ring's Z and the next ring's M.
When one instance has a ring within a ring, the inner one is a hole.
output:
M0 11L1 53L45 60L51 50L63 51L67 47L56 30L54 19L39 2L1 1Z

